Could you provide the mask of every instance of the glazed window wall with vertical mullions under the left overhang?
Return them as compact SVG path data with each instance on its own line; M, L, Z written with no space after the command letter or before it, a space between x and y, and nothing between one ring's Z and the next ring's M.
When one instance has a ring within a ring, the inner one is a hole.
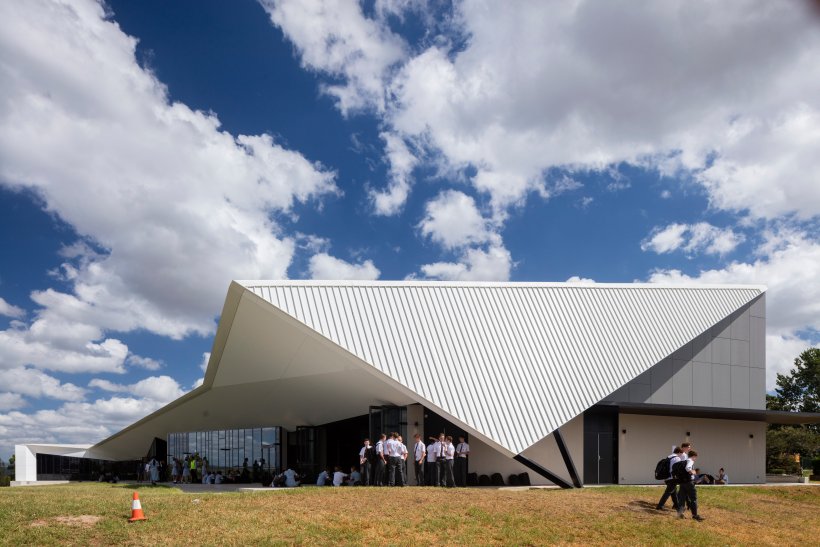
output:
M168 459L199 454L208 458L210 469L241 470L245 458L248 467L254 461L262 462L266 471L276 472L282 465L282 429L255 427L248 429L218 429L190 431L168 435Z

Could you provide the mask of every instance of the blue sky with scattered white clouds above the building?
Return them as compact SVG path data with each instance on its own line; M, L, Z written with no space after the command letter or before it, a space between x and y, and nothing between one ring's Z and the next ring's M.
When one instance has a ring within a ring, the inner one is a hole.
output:
M817 3L0 3L0 458L202 382L232 279L765 284L820 342Z

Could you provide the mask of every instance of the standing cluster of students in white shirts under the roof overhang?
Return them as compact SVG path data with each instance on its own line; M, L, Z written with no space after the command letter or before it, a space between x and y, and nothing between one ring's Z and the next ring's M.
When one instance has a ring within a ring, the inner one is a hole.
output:
M444 433L430 437L425 445L420 434L414 436L413 469L416 486L466 486L470 445L459 437L458 445ZM361 484L364 486L407 486L407 460L410 452L396 432L382 434L375 446L364 440L359 451Z

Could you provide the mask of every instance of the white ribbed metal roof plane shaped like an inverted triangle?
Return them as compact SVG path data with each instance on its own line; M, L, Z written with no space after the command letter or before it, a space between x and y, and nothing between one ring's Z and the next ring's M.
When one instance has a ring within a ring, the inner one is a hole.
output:
M759 286L240 281L519 454Z

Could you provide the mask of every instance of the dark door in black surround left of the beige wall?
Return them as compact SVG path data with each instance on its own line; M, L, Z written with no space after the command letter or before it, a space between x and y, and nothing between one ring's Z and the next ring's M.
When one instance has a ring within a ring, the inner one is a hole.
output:
M618 410L593 407L584 412L584 483L618 482Z

